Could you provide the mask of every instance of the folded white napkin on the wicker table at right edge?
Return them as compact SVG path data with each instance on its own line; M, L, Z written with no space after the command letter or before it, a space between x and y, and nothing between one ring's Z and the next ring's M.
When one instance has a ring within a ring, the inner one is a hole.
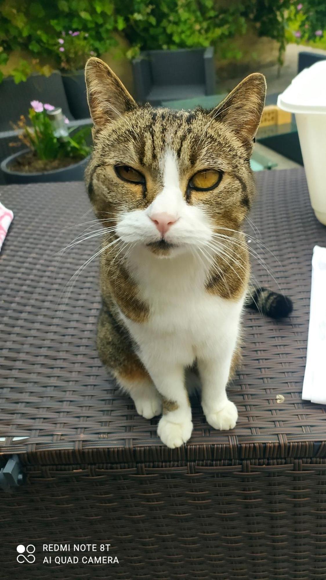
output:
M326 405L326 248L315 246L311 273L310 318L302 398Z

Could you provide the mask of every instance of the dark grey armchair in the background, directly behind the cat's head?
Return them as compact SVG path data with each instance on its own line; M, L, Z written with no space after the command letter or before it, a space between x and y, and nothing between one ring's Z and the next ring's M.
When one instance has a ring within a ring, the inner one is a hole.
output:
M213 48L147 50L132 61L140 103L191 99L215 93Z

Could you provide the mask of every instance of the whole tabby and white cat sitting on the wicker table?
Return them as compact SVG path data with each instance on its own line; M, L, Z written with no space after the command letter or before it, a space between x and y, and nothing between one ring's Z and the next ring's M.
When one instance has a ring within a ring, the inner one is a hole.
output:
M158 435L179 447L193 429L187 368L198 369L207 422L237 422L226 385L248 292L241 226L255 194L249 159L265 77L249 75L212 111L137 106L96 58L86 85L94 148L85 177L106 227L97 347L137 412L162 412ZM255 302L286 314L273 292L256 291Z

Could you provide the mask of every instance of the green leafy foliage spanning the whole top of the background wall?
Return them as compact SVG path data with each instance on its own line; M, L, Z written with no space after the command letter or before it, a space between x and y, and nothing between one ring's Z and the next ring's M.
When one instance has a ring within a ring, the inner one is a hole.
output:
M116 46L115 32L129 42L129 58L140 50L213 45L220 57L240 59L231 39L244 34L248 23L276 39L280 65L289 41L326 46L326 3L320 0L0 0L0 70L1 55L16 49L75 70L89 55ZM79 35L68 40L69 31ZM16 82L27 78L26 61L13 76Z

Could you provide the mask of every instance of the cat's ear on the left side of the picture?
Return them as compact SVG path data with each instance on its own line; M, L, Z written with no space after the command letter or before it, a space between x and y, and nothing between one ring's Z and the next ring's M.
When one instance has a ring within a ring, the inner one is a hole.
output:
M114 121L137 104L103 60L92 57L86 63L85 81L90 116L96 129Z

